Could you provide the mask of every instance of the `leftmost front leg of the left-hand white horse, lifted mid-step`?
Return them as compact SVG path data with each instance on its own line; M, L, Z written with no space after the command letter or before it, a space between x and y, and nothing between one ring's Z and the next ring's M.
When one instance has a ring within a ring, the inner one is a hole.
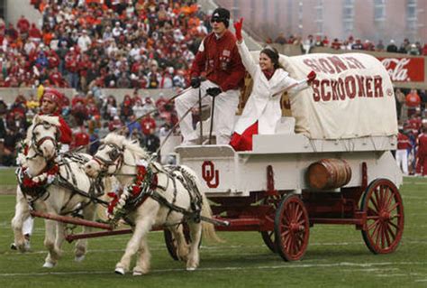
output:
M14 230L14 245L21 251L27 251L25 246L25 237L23 236L23 222L25 219L30 218L30 209L23 192L16 188L16 205L14 218L11 221L12 229Z

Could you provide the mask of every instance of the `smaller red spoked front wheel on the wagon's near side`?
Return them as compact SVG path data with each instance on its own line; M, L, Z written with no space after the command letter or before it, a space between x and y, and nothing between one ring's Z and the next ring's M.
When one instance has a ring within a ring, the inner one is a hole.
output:
M308 246L310 225L303 201L288 194L276 212L275 237L278 254L285 261L301 259Z

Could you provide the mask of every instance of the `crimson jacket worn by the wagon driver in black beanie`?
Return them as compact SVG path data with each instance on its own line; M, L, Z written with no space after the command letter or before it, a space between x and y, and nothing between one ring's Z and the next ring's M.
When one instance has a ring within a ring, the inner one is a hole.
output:
M205 74L223 91L237 89L243 83L245 68L237 50L236 38L226 31L220 39L215 33L207 35L200 44L191 67L191 77Z

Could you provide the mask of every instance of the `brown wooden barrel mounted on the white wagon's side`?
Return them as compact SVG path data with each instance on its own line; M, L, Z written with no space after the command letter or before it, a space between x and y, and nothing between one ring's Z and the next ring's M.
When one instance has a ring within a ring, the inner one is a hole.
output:
M306 176L313 189L335 189L350 181L351 168L349 163L342 159L322 159L310 164Z

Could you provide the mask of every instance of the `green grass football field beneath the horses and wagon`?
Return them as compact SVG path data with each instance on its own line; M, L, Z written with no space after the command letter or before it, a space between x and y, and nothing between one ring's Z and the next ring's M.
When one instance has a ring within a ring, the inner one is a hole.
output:
M129 236L92 239L82 263L74 262L73 245L65 243L59 265L46 270L37 219L32 252L10 250L14 196L2 195L0 287L427 287L427 180L405 178L401 193L404 237L390 255L371 254L351 226L313 227L304 259L292 263L272 254L257 232L221 233L227 243L203 243L200 268L186 272L184 263L169 257L162 233L152 232L151 272L141 277L114 274Z

